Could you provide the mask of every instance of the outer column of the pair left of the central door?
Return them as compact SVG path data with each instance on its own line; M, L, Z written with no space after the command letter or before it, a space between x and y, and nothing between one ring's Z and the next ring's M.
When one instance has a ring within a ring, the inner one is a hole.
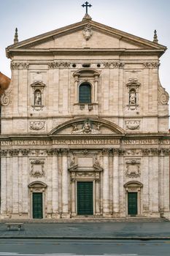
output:
M53 218L60 218L61 214L58 212L58 149L53 150Z

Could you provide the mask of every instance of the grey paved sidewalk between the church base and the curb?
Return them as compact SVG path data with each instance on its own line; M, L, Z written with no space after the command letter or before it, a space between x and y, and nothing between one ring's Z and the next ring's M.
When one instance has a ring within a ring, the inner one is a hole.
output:
M2 238L170 239L170 222L24 223L20 231L1 222Z

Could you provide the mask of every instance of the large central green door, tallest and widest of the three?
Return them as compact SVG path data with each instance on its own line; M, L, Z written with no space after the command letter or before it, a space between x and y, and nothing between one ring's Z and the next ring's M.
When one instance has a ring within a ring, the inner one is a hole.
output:
M93 215L93 181L77 181L77 214Z

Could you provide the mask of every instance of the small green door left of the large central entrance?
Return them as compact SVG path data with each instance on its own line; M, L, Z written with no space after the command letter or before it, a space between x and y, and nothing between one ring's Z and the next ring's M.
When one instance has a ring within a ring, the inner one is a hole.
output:
M42 193L33 193L33 219L42 219Z

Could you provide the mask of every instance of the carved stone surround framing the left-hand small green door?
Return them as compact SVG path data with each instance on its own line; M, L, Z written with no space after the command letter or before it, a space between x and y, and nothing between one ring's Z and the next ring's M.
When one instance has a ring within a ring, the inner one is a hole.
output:
M33 181L31 184L28 184L28 193L29 193L29 200L28 200L28 214L29 217L33 218L33 193L42 193L42 216L43 218L46 217L46 190L47 190L47 184L45 184L42 181Z

